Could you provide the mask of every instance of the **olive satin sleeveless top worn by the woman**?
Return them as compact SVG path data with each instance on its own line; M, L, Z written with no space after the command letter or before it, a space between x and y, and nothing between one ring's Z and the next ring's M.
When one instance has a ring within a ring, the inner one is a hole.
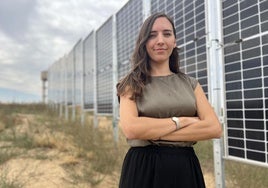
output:
M194 89L198 81L183 73L152 76L136 100L139 116L171 118L197 116ZM127 140L132 147L147 145L192 146L195 142L165 140Z

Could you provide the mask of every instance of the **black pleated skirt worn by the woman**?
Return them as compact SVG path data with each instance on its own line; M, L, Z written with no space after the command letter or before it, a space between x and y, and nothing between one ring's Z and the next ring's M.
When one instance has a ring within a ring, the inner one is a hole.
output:
M204 188L192 147L131 147L126 154L119 188Z

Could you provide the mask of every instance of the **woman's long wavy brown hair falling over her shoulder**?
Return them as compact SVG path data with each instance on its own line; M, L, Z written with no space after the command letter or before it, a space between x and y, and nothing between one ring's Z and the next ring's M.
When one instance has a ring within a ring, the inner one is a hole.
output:
M151 66L149 63L150 57L146 50L146 43L150 36L153 24L157 18L165 17L169 20L172 25L173 33L176 38L176 30L173 20L164 13L155 13L148 17L138 35L134 52L131 58L131 71L117 84L117 95L124 95L130 92L131 99L135 100L142 94L142 90L146 83L150 82L150 70ZM175 47L169 57L169 68L173 73L179 73L179 55L178 48Z

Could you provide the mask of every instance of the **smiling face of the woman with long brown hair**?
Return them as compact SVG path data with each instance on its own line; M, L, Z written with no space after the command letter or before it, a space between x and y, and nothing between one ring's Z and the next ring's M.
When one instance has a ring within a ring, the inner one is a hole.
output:
M165 17L157 18L146 42L150 63L168 63L174 47L176 38L171 23Z

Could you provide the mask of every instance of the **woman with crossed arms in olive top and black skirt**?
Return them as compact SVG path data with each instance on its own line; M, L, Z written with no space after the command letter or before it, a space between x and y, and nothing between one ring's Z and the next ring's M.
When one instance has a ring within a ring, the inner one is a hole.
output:
M220 123L202 87L180 72L173 21L143 23L131 72L117 84L120 126L131 146L120 188L205 187L192 145L219 138Z

